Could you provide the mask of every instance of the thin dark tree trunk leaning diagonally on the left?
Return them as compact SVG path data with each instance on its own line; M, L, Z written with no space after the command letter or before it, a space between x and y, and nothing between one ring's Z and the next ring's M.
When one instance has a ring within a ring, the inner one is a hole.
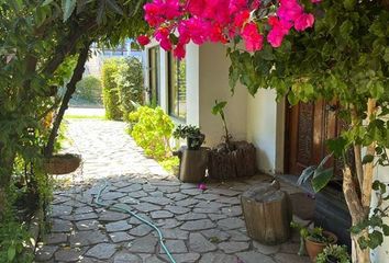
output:
M73 71L71 79L70 79L69 83L66 85L66 92L65 92L63 102L62 102L60 107L58 110L57 116L54 121L53 129L49 134L48 141L45 147L45 152L44 152L45 157L51 157L53 155L55 140L57 138L58 129L59 129L60 123L64 118L65 111L68 108L71 95L76 91L77 82L82 79L82 75L85 71L85 64L88 60L90 44L91 44L91 42L88 42L85 45L85 47L80 50L76 68Z

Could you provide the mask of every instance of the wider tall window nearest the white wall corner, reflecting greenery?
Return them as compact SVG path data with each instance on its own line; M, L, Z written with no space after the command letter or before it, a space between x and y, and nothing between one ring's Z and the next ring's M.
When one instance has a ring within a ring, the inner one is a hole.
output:
M169 54L169 114L174 117L186 119L187 117L187 73L185 59L178 60Z

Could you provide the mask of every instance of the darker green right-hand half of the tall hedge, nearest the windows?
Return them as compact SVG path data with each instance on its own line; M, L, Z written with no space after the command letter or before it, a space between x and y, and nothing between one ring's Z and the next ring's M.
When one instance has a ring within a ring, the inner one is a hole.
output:
M144 102L144 83L142 62L137 58L126 58L116 76L121 111L125 121L135 110L134 103L142 105Z

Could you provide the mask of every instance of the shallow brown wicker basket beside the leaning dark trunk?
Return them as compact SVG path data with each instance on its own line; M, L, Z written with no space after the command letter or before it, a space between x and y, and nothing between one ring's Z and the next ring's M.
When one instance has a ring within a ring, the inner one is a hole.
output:
M55 155L44 162L44 169L51 174L71 173L79 168L81 157L78 155Z

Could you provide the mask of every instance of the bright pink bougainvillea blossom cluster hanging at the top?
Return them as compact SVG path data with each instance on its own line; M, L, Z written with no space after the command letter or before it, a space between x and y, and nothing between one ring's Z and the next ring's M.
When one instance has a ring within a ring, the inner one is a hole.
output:
M314 23L314 15L298 0L153 0L144 10L153 28L149 36L177 58L185 57L189 42L225 44L240 37L247 52L256 52L266 38L273 47L279 47L290 30L301 32ZM149 36L142 35L137 41L147 45Z

